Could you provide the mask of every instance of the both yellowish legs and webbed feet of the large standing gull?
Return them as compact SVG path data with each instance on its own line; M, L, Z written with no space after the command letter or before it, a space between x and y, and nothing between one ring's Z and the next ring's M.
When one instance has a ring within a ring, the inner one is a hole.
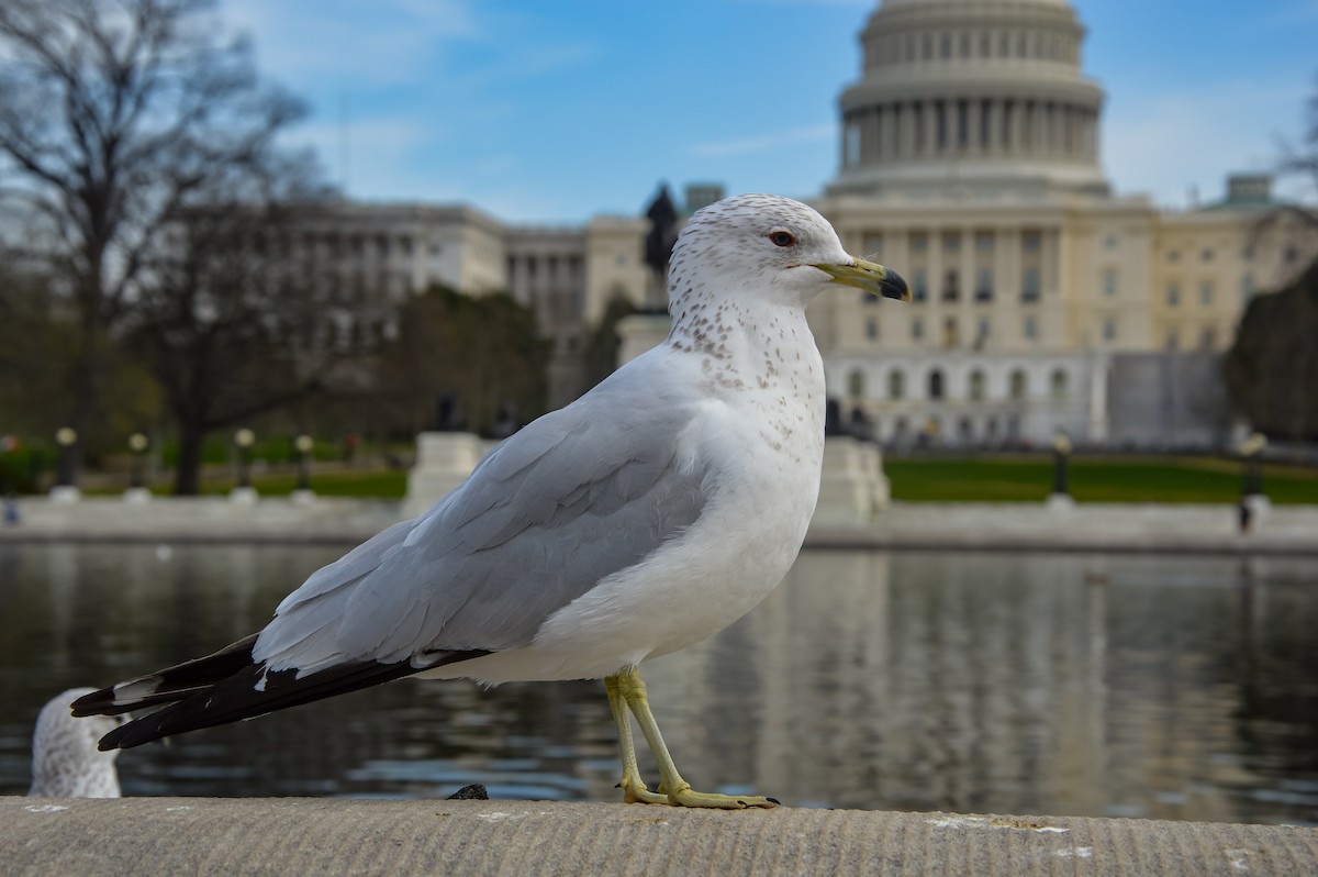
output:
M605 679L605 688L609 692L609 706L613 708L613 717L618 724L618 739L622 746L623 793L627 794L627 801L670 803L677 807L720 807L724 810L778 806L778 801L774 798L716 795L693 791L691 783L677 773L677 766L672 762L668 748L664 746L663 736L659 733L659 724L655 721L654 713L650 712L650 699L646 696L646 683L641 679L641 673L635 667L623 670L618 675ZM631 723L626 715L626 710L622 710L623 703L637 717L641 733L645 735L646 741L650 744L655 764L659 765L659 777L662 781L659 789L664 794L648 791L645 783L641 782L641 775L637 770L637 756L631 742ZM634 785L639 785L645 790L643 795L627 793L629 769L635 775Z

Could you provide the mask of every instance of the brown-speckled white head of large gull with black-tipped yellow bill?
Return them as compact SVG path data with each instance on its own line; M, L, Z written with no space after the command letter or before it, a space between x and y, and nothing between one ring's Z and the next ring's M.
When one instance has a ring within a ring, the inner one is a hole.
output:
M830 284L909 301L890 268L847 255L826 219L779 195L735 195L696 211L677 236L672 305L710 294L804 307Z

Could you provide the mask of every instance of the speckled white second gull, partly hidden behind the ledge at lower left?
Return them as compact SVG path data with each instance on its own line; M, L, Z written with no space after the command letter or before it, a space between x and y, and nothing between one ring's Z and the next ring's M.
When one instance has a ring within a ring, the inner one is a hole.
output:
M123 724L108 716L74 719L69 704L95 688L55 695L37 716L32 735L29 798L119 798L117 749L100 752L96 741Z

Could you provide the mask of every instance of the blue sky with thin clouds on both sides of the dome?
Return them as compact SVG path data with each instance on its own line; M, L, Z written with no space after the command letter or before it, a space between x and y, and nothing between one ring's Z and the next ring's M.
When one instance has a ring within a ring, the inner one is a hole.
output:
M351 197L515 222L637 214L660 181L812 197L875 0L220 0L310 102ZM1184 206L1297 142L1318 0L1074 0L1116 191ZM347 125L343 121L347 120ZM344 136L347 131L347 136ZM1296 191L1296 190L1292 190Z

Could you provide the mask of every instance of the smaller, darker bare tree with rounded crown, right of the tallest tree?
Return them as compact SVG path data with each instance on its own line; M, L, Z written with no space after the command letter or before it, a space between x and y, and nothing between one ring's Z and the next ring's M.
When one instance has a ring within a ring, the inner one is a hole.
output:
M144 258L127 339L177 429L175 493L198 492L210 433L307 398L365 352L332 332L330 284L298 244L299 219L326 195L297 156L233 165Z

